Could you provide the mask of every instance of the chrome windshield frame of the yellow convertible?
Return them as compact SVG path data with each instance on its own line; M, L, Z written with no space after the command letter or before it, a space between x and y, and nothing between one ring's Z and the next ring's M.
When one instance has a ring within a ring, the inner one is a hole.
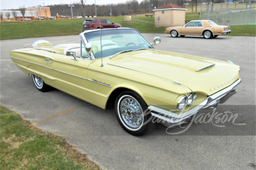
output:
M110 28L110 29L133 29L133 28ZM104 29L104 31L110 30L110 29ZM137 31L136 29L133 29L133 30ZM85 38L84 34L85 34L85 33L89 33L89 32L94 32L94 31L100 31L100 30L98 30L98 29L91 29L91 30L86 30L86 31L80 33L80 39L81 39L82 43L84 44L84 46L86 46L86 44L89 43L89 42L87 41L87 39ZM139 31L137 31L137 32L139 33ZM141 33L139 33L139 35L141 35ZM142 36L142 35L141 35L141 36ZM142 36L142 37L143 37L143 36ZM146 40L144 37L143 37L143 39ZM146 40L146 41L147 41L147 40ZM148 42L148 41L147 41L147 42ZM150 42L148 42L148 44L150 44ZM151 45L151 44L150 44L150 45ZM151 45L151 47L152 47L152 48L148 48L148 49L155 49L154 46ZM82 50L82 49L81 49L81 50ZM114 55L115 55L115 54L114 54ZM95 60L95 59L101 59L101 58L95 58L93 52L90 53L88 56L90 57L90 59L93 59L93 60ZM112 55L112 56L113 56L113 55ZM106 56L106 57L111 57L111 56ZM106 58L106 57L102 57L102 58Z

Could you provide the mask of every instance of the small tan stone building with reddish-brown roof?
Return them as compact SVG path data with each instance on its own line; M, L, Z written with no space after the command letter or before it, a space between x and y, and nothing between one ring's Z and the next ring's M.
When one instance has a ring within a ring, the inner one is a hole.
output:
M187 8L174 4L167 4L155 8L155 27L172 27L185 24L185 14Z

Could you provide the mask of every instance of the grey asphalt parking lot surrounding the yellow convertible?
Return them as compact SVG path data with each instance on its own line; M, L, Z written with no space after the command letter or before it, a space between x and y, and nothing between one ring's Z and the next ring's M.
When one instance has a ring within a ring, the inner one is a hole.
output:
M42 93L36 90L31 76L11 62L10 51L24 44L40 39L79 42L79 36L2 40L1 104L40 129L63 135L102 169L255 169L255 37L205 40L199 36L142 35L149 42L160 36L162 41L155 46L159 50L240 65L238 93L220 109L239 113L240 123L247 124L247 129L236 126L230 133L232 126L193 124L184 134L168 135L166 128L158 125L150 135L133 137L119 126L114 110L105 111L59 90Z

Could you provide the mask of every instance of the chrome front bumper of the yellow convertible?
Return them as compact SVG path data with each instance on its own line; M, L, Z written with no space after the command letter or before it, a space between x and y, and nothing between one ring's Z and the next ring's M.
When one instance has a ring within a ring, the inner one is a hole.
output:
M151 111L151 115L162 120L161 122L177 124L198 112L212 112L214 109L216 109L218 103L224 103L229 99L229 97L237 93L237 90L234 90L234 87L236 87L239 83L241 83L241 79L236 80L236 82L231 84L229 87L218 91L216 94L208 96L207 99L202 103L184 113L177 114L158 107L154 107L152 105L150 105L148 109Z

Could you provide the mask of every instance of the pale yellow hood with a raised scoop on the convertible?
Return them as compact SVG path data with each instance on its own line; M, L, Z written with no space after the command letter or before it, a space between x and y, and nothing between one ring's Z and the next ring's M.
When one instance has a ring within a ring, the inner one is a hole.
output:
M233 63L162 50L128 52L110 60L109 65L177 81L205 95L212 95L239 79L240 67ZM212 67L198 71L208 66Z

